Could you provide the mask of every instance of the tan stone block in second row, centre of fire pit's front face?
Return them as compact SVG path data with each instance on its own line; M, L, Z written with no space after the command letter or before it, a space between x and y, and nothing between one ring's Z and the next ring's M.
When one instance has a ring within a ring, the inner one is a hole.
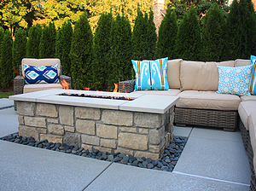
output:
M96 134L99 137L107 139L117 139L118 128L113 125L96 124Z

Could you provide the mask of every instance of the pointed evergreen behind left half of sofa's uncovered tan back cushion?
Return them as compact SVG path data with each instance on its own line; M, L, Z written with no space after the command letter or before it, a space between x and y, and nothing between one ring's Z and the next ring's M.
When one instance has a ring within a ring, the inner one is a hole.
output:
M201 59L201 32L195 9L184 14L177 32L177 57L189 61Z

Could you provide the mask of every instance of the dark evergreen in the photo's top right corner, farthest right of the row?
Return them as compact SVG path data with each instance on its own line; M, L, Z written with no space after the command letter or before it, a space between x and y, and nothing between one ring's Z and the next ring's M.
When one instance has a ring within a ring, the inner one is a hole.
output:
M227 18L229 59L249 59L256 52L256 20L250 0L234 0Z

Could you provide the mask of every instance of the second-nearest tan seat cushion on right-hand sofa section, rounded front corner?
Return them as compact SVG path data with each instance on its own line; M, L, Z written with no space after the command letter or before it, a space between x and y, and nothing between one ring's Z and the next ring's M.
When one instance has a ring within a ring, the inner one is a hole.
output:
M256 111L256 101L241 101L238 113L242 124L248 130L248 119L251 113Z

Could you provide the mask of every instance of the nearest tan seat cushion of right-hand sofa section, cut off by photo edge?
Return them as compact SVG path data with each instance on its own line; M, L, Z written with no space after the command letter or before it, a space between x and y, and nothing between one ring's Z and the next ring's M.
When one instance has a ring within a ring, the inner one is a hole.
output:
M256 154L256 110L250 114L249 119L248 119L248 124L249 124L249 134L251 138L251 144L253 148L253 155L255 156ZM254 165L255 167L256 165Z

